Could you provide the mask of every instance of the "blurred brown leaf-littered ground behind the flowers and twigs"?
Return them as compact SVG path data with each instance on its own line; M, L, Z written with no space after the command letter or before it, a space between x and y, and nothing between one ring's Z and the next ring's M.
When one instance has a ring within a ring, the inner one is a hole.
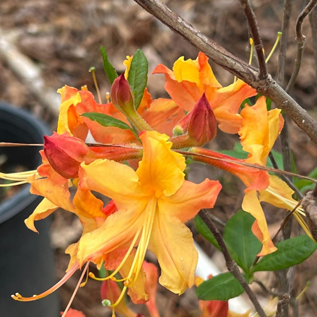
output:
M248 28L238 1L166 0L163 2L231 53L245 61L249 60ZM283 1L254 0L252 4L259 21L265 52L268 53L281 28ZM293 1L285 69L287 80L292 73L296 55L294 24L303 6L303 1ZM306 36L304 55L291 95L317 119L317 89L308 19L303 23L303 34ZM198 53L196 48L145 12L133 0L2 0L0 2L0 100L28 110L45 121L51 130L55 130L59 109L59 94L56 90L64 85L80 88L86 84L88 89L95 93L92 77L88 72L90 67L95 66L105 103L105 94L110 87L103 71L100 45L105 46L109 60L118 73L125 70L122 61L126 55L132 55L138 48L144 51L149 60L149 73L159 63L172 68L179 56L195 59ZM277 70L277 57L276 51L268 63L268 70L273 77ZM230 73L212 62L210 64L223 86L233 82ZM148 89L153 98L168 96L164 91L163 75L150 75ZM316 147L293 123L290 124L290 139L297 172L307 175L316 164ZM210 147L215 150L232 149L237 140L237 136L226 135L219 131ZM277 144L276 150L278 146ZM197 175L197 167L193 166L191 169ZM243 187L236 186L237 180L230 175L211 168L206 171L199 169L196 180L201 181L200 177L205 178L206 173L210 178L222 179L224 190L219 196L214 212L218 217L226 220L241 206ZM277 213L276 209L267 212L270 228L275 232L283 218L283 213ZM194 230L192 224L189 226ZM58 279L64 275L68 264L68 256L64 254L64 250L70 243L76 242L80 235L81 225L76 217L61 211L54 213L51 238ZM195 231L194 235L196 236ZM221 256L199 236L197 240L207 254L213 256L221 266ZM312 256L300 266L301 273L296 275L297 293L305 286L307 279L313 281L311 288L301 300L300 312L303 317L317 313L315 261L316 257ZM78 278L74 276L74 279L60 289L62 307L66 306ZM266 274L262 279L269 284L272 276ZM90 280L79 290L72 307L82 310L87 317L111 315L110 311L108 313L107 308L100 304L99 287L99 282ZM262 295L267 297L265 294ZM199 316L193 290L178 297L159 288L158 304L164 317ZM142 308L138 312L147 314Z

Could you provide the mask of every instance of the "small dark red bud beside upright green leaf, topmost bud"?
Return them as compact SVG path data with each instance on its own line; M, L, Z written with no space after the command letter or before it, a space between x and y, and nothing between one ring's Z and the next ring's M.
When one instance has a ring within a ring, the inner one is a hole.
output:
M113 81L111 86L111 102L120 112L129 115L134 109L134 96L124 74Z

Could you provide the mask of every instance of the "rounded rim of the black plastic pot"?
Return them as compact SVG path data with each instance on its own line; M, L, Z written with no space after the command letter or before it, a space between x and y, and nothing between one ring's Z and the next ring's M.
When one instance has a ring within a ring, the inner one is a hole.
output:
M33 128L34 134L37 134L37 136L35 137L36 140L32 142L41 143L43 142L43 135L51 134L49 127L40 119L36 118L24 109L15 108L8 102L3 102L0 100L0 113L8 113L12 116L17 116L20 119L28 122L28 124ZM39 158L38 165L40 165L41 163L42 161ZM38 199L37 195L30 194L29 189L30 185L26 184L23 186L23 189L18 191L15 195L5 199L3 202L0 202L0 223L3 223L4 221L15 216L21 210L26 208L29 204Z

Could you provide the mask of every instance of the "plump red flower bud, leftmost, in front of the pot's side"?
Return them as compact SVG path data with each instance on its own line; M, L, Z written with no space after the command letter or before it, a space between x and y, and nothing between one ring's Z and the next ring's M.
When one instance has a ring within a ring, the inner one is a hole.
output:
M49 164L61 176L76 178L89 148L81 139L54 132L50 137L44 136L44 153Z

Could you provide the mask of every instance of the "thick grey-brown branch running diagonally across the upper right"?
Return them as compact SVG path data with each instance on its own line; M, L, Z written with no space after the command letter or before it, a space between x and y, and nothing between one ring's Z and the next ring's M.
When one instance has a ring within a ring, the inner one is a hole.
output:
M134 1L166 24L175 33L178 33L185 40L203 51L216 64L272 99L276 106L287 113L317 145L317 122L272 79L271 75L268 74L266 79L260 79L258 69L248 65L218 43L203 35L159 0Z

